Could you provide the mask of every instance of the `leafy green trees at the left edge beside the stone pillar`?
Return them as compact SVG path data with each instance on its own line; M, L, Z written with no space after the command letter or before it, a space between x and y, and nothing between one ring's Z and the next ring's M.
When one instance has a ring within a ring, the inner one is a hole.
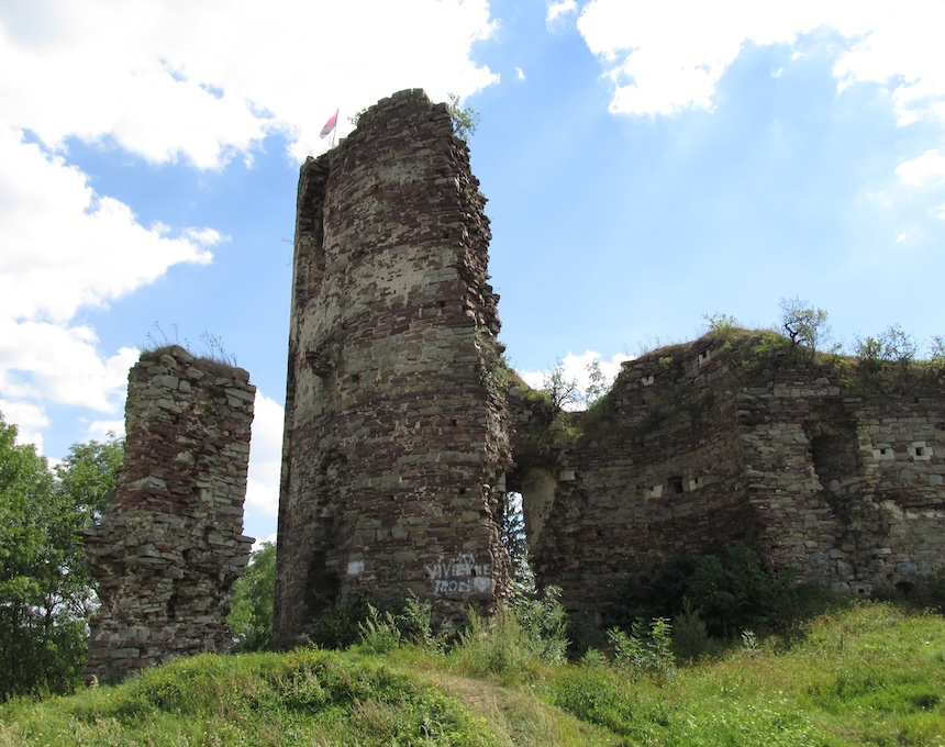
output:
M81 680L94 595L76 533L110 500L121 453L76 445L54 473L15 437L0 415L0 699Z

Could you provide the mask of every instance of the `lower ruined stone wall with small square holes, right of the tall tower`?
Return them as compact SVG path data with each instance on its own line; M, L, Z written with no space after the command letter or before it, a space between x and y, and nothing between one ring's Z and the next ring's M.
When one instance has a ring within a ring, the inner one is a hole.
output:
M593 617L662 559L736 540L798 581L863 594L945 568L943 382L865 391L788 356L759 370L757 341L742 342L624 364L601 406L574 415L581 435L544 450L540 408L513 390L509 486L538 578L568 607Z

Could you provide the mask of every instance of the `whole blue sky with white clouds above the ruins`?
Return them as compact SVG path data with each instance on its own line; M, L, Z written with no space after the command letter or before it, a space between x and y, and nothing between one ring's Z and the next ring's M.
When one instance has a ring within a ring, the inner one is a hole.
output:
M541 380L704 314L945 334L942 0L7 0L0 412L60 458L122 427L152 342L258 387L275 532L298 165L403 88L481 114L501 338ZM614 357L616 356L616 358Z

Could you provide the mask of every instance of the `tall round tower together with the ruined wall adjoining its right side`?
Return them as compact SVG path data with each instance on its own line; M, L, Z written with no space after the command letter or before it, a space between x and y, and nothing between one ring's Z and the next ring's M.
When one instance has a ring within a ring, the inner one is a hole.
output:
M448 112L418 90L302 166L278 647L351 594L491 607L509 490L540 583L591 618L633 575L733 542L859 594L945 568L941 375L872 391L710 334L624 364L556 438L500 359L483 203Z

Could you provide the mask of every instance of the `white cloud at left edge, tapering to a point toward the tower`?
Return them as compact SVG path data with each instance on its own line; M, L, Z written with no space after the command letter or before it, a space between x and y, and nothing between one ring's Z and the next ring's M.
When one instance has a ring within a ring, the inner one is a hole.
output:
M0 319L68 322L160 277L181 261L209 263L208 230L168 235L97 194L62 156L0 129ZM200 238L200 241L194 241Z

